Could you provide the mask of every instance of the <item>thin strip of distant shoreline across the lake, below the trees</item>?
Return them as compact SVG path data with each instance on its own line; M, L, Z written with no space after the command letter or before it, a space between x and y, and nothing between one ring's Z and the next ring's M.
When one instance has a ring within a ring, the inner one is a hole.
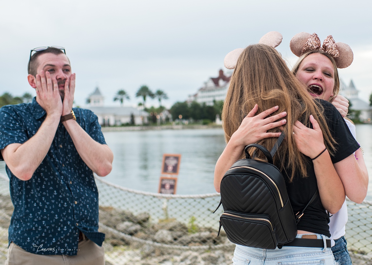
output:
M121 126L121 127L102 127L103 132L111 131L148 131L148 130L184 130L184 129L215 129L222 128L222 125L160 125L160 126Z

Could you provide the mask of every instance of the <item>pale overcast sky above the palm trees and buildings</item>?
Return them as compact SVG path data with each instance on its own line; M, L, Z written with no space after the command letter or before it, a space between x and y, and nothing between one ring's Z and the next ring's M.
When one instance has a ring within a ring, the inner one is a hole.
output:
M278 31L277 48L293 63L289 41L299 32L333 35L350 45L351 66L341 79L353 79L360 97L372 92L372 1L292 0L12 0L0 9L0 94L35 91L27 82L32 48L66 48L76 73L75 102L83 106L98 85L106 105L119 89L137 105L141 85L162 89L170 107L185 101L209 77L225 69L225 55ZM148 105L157 105L156 100Z

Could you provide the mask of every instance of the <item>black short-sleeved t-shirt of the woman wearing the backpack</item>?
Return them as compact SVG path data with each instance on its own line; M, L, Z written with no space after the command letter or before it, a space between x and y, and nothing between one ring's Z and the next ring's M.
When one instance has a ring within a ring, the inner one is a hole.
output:
M350 156L358 148L359 144L350 133L346 122L337 111L337 109L328 101L318 101L324 107L324 116L327 120L328 128L334 140L336 140L336 152L331 156L332 163L337 163L344 158ZM308 177L302 177L296 174L292 183L285 177L287 192L294 213L301 212L317 189L317 180L315 177L314 167L310 157L307 157ZM283 176L289 175L290 172L283 171ZM324 209L320 197L318 196L305 210L301 221L297 225L298 230L305 230L312 233L319 233L330 237L329 233L329 217Z

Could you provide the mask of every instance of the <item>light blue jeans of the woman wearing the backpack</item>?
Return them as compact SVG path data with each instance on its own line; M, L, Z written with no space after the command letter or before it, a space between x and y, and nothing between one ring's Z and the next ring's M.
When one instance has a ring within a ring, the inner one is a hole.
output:
M314 235L314 234L311 234ZM329 239L315 234L318 239ZM296 238L301 238L297 235ZM259 249L236 245L233 265L336 265L331 248L283 246L282 249Z

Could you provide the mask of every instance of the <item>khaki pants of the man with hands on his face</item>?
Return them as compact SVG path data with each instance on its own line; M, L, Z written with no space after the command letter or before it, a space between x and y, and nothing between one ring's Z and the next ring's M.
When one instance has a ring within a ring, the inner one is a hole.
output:
M5 265L104 265L105 249L89 239L80 241L76 256L39 255L10 243Z

